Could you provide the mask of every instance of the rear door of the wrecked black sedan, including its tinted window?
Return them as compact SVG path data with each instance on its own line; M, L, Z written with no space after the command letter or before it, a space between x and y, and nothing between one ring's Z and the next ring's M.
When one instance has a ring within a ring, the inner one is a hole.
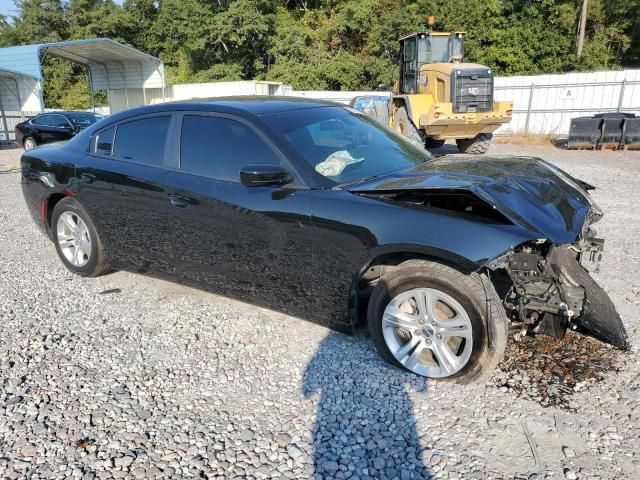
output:
M99 130L76 165L78 201L116 268L164 270L164 197L171 113L134 117Z

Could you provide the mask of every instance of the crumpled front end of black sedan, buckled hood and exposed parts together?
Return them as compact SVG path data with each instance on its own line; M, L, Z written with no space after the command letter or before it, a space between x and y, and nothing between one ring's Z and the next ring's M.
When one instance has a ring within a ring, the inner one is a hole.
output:
M491 278L516 338L527 333L561 338L570 328L626 349L620 316L590 275L598 270L604 247L593 228L603 216L589 193L594 189L538 158L469 155L439 157L350 188L466 222L468 228L453 228L430 217L428 234L441 235L428 242L468 255ZM508 250L495 250L505 243Z

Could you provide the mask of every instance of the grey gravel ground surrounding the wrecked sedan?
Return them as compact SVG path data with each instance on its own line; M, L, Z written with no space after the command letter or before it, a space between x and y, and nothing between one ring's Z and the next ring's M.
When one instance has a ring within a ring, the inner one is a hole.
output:
M496 145L599 187L632 349L512 343L487 385L183 286L67 273L0 152L0 477L640 478L640 153ZM4 166L2 166L4 165Z

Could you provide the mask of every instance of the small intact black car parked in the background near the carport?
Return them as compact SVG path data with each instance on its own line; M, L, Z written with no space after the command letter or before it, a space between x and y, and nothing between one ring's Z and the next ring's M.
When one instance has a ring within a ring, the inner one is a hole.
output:
M45 143L62 142L102 118L102 115L91 112L43 113L16 125L16 142L25 150Z

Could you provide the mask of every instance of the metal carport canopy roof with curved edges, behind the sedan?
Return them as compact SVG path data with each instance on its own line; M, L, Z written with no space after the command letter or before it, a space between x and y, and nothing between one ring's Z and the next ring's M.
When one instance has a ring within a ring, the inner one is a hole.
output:
M142 89L144 93L147 88L163 91L165 88L160 59L109 38L0 48L0 69L11 69L42 81L41 61L45 55L86 66L92 91Z

